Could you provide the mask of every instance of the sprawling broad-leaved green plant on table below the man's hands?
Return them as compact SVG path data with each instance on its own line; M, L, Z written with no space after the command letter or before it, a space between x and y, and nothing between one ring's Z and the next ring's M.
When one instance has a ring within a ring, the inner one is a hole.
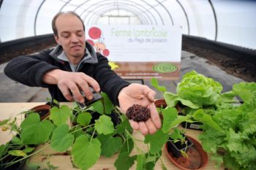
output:
M162 155L162 146L167 139L163 139L161 144L156 142L154 136L148 135L145 141L141 141L132 136L132 128L129 125L127 116L114 107L108 96L102 93L103 99L91 104L91 106L78 110L77 115L72 116L72 109L67 105L52 107L50 115L40 120L39 113L29 111L26 118L20 125L13 126L15 120L1 121L1 127L10 127L12 132L19 134L18 141L22 142L24 149L11 148L10 144L2 144L0 147L1 169L7 169L14 163L30 158L47 147L51 147L57 152L70 153L72 163L79 169L89 169L97 162L100 155L110 157L118 152L115 162L116 169L129 169L135 161L138 169L154 169L154 164ZM98 118L91 122L91 113L98 112ZM114 125L108 115L115 111L120 123ZM69 126L68 120L75 121L76 125ZM161 134L162 132L159 132ZM157 135L159 135L157 134ZM40 137L38 137L40 136ZM141 150L135 141L150 144L148 151ZM43 144L39 150L34 151L34 147ZM31 148L29 146L33 145ZM137 148L138 154L131 155L133 148ZM110 149L111 148L111 149ZM17 151L19 158L4 161L12 152ZM28 151L29 150L29 151ZM34 151L34 152L32 152ZM88 154L90 153L90 154ZM50 156L50 155L49 155ZM124 161L125 160L125 161ZM44 166L50 166L47 163Z

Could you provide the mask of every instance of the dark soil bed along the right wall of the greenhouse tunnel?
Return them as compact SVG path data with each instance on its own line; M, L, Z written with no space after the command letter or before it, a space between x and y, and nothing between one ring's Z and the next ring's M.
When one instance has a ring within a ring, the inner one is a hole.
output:
M200 58L206 58L210 64L218 66L228 74L232 74L247 82L256 82L255 63L238 58L232 58L230 56L217 53L214 50L195 47L184 41L182 42L182 50L193 53Z

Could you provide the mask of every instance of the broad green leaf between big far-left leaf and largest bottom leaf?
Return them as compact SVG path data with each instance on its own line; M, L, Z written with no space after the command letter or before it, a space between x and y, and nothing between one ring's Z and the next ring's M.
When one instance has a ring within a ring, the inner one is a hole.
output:
M62 124L53 131L50 146L56 151L64 152L71 146L73 141L74 136L69 134L69 126Z

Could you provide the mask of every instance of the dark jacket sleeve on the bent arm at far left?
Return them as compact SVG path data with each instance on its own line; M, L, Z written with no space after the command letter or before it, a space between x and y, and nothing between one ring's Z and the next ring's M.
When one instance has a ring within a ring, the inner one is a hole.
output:
M42 82L42 76L53 69L58 67L50 64L48 53L43 52L13 58L4 68L4 74L24 85L47 88L49 85Z

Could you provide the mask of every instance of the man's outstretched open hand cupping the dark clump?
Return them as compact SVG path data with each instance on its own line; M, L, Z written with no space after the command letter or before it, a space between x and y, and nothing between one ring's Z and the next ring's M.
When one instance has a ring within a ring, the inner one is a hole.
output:
M135 122L134 120L129 120L132 128L139 130L141 134L154 134L157 129L161 128L161 120L157 112L157 108L154 105L154 96L156 93L151 88L146 85L140 85L137 83L132 83L131 85L123 88L119 95L118 101L122 112L127 112L129 107L133 104L140 104L143 107L148 107L150 110L151 118L146 120L146 122Z

